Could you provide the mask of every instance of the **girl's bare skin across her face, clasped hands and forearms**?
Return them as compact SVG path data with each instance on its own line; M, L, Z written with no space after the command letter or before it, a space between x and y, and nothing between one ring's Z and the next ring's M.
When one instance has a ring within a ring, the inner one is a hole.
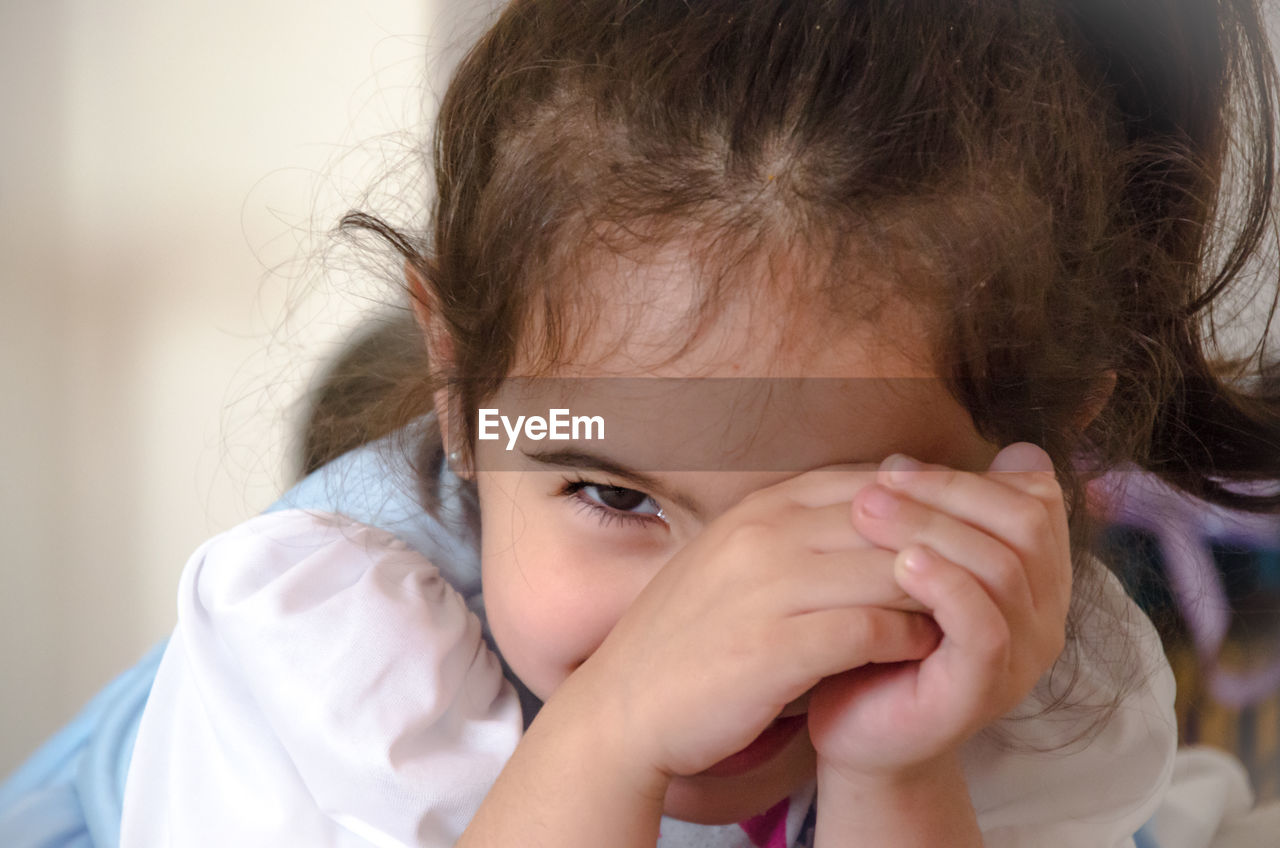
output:
M696 398L657 407L599 379L573 401L543 383L490 398L503 412L608 410L620 436L607 447L556 447L608 453L662 491L512 456L506 439L474 446L486 612L547 703L460 844L652 845L659 815L740 821L814 779L820 845L980 844L956 752L1062 649L1070 556L1048 457L974 430L904 343L925 329L904 304L837 334L814 314L778 320L790 301L774 287L672 361L657 339L692 274L678 252L600 269L593 291L618 309L554 375L804 375L841 389L733 415ZM440 338L429 333L447 355ZM443 393L436 407L453 411ZM662 470L728 446L748 470ZM904 460L916 464L895 474ZM780 715L805 715L806 731L742 774L716 772Z

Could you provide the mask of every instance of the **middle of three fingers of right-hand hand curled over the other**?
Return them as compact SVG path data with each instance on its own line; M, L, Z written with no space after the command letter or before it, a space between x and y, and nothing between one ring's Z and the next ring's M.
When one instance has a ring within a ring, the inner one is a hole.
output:
M881 501L891 507L888 512L860 509L874 510ZM1037 608L1039 598L1023 557L982 529L888 489L868 491L855 509L858 526L869 541L895 552L924 544L961 565L978 578L1009 619L1023 621Z

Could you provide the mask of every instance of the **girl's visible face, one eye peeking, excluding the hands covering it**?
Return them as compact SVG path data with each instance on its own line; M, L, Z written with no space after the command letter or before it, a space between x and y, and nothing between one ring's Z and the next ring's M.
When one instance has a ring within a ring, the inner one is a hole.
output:
M512 670L544 701L663 564L748 493L893 452L986 470L998 451L920 361L923 341L913 339L923 339L922 328L904 307L838 336L817 320L782 327L776 305L730 309L698 347L655 366L675 350L654 342L687 309L687 274L680 263L602 274L596 291L614 292L620 309L616 320L595 327L581 357L589 364L556 374L571 379L508 382L486 402L509 421L568 409L605 423L603 442L582 438L584 430L570 441L521 434L511 451L499 424L500 438L474 451L485 610ZM627 292L643 295L639 313ZM654 380L666 393L659 401L637 380L617 377L754 379ZM748 470L708 468L721 460ZM666 813L741 821L813 780L814 763L801 733L745 772L675 779Z

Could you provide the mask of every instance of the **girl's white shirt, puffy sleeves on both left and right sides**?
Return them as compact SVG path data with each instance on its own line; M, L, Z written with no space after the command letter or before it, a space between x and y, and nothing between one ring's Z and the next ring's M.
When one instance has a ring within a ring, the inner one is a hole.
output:
M1070 699L1105 703L1125 681L1129 696L1098 735L1057 749L1089 713L1037 715L1062 683L1046 674L1015 711L1024 717L1002 726L1047 753L1004 751L986 734L966 743L988 848L1129 847L1170 795L1172 673L1119 582L1106 574L1101 587L1082 630L1107 660L1085 656ZM480 619L442 569L348 518L268 512L187 564L125 785L122 848L444 848L522 729Z

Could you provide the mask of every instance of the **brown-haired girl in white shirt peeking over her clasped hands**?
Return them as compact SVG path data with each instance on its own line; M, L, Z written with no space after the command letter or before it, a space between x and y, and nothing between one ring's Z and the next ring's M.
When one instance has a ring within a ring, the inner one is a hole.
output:
M1280 502L1203 333L1274 90L1252 0L516 0L430 238L346 220L430 355L188 564L120 844L1208 844L1082 492Z

